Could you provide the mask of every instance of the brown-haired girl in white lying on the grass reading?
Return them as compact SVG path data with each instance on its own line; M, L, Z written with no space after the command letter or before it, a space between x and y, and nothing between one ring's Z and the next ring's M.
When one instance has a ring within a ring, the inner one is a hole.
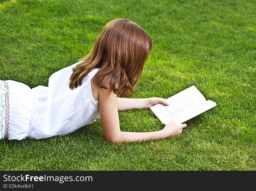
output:
M52 74L48 87L0 80L0 138L21 140L66 135L100 117L107 141L142 142L179 135L186 124L161 131L120 131L118 110L168 105L163 98L128 99L152 49L150 36L128 19L114 19L101 31L90 53ZM118 97L119 96L119 97Z

